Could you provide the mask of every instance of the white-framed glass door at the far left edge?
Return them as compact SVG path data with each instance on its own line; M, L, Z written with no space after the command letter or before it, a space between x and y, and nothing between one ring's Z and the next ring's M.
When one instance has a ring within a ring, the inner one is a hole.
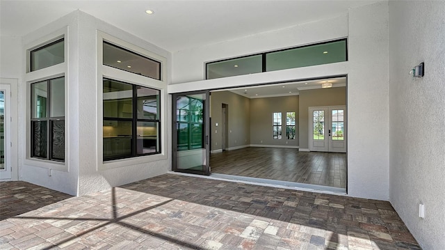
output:
M0 84L0 179L11 178L10 85Z

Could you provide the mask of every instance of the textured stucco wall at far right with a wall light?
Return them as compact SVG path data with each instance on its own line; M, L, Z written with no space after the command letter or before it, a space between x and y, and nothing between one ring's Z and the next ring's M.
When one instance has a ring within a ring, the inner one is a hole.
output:
M445 249L444 10L389 1L389 198L423 249ZM421 62L425 76L409 75Z

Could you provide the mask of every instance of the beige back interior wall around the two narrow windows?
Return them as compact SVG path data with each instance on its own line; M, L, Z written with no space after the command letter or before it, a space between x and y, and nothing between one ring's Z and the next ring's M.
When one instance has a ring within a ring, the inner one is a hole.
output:
M250 100L250 141L254 146L298 147L298 95ZM286 112L296 112L296 139L286 139ZM282 139L273 139L273 113L282 112Z

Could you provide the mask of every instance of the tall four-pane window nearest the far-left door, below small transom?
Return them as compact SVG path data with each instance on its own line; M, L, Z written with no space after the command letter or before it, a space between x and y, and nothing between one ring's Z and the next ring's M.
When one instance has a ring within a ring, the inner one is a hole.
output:
M31 157L65 161L65 77L31 84Z

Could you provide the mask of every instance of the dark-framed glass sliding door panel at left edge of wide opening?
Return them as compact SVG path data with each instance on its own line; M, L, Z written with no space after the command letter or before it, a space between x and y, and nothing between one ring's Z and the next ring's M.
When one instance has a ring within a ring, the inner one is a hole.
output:
M210 174L209 91L172 95L172 170Z

